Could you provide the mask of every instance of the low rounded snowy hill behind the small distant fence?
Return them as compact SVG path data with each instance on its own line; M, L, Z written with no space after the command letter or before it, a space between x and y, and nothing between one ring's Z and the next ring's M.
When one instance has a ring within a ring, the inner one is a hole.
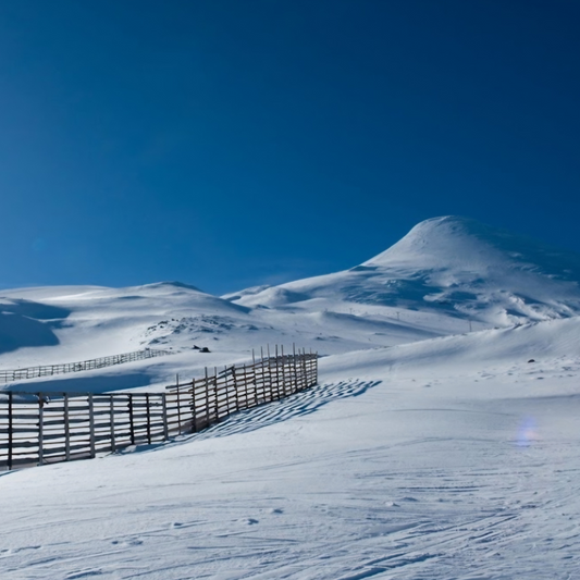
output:
M185 346L175 341L168 344L168 329L178 338L178 326L184 314L197 319L192 338L197 338L211 328L250 325L249 309L177 282L147 284L127 288L85 286L22 288L3 292L0 297L0 321L18 316L23 320L42 322L51 333L44 346L57 348L29 348L21 342L17 355L7 345L5 335L0 338L0 365L53 362L55 357L82 360L115 353L131 351L144 346ZM36 346L36 345L34 345ZM42 346L42 345L40 345Z

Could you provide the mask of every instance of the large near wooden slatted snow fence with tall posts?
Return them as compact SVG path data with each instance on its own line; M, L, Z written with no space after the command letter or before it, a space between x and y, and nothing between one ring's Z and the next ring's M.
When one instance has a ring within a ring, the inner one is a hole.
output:
M206 369L163 393L0 393L0 469L70 461L200 431L242 409L312 386L313 353Z

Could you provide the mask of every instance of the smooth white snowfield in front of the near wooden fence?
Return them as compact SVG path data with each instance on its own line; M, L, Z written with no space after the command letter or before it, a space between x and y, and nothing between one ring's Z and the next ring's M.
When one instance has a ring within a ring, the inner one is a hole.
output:
M580 578L580 319L320 369L190 437L0 474L1 578Z

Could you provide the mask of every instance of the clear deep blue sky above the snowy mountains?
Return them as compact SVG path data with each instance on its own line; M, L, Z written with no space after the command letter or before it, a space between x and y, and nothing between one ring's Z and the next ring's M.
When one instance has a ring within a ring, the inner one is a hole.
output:
M0 4L0 285L220 294L462 214L580 251L576 0Z

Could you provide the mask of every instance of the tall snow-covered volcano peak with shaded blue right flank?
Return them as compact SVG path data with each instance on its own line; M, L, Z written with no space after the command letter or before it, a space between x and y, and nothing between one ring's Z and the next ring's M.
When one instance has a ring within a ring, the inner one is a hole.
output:
M419 223L350 270L224 298L270 308L360 311L353 305L365 305L510 325L577 314L579 282L578 254L468 218L444 217Z

